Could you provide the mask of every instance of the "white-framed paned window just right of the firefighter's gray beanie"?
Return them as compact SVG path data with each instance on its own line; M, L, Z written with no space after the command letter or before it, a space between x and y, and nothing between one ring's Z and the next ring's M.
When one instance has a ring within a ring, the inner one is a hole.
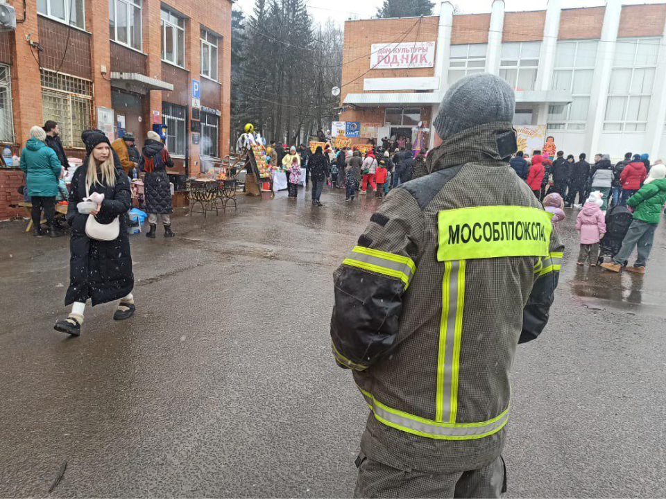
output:
M539 68L541 42L507 42L502 44L499 76L514 90L533 90Z

